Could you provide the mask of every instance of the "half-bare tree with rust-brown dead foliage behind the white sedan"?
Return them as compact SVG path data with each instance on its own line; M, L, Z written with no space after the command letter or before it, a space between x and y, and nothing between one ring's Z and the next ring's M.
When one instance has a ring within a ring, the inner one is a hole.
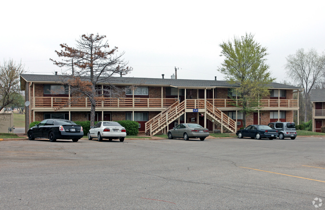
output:
M115 75L126 75L132 71L128 67L121 54L117 54L117 47L111 48L106 36L87 34L76 40L76 48L67 44L60 44L64 50L55 51L62 61L55 61L54 64L62 67L69 67L72 75L64 74L60 83L67 84L71 88L72 99L66 104L76 103L82 97L87 97L91 103L90 125L95 122L96 100L102 99L103 95L121 97L123 91L113 85ZM106 88L98 88L97 84L105 84ZM125 90L124 90L125 92ZM58 107L61 108L61 107Z

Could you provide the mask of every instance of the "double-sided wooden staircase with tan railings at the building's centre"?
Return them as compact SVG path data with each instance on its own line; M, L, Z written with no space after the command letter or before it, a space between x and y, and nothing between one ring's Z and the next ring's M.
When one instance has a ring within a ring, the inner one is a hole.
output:
M231 133L236 131L236 122L232 120L227 114L214 107L210 102L206 102L206 117L216 125L221 126L222 130L227 130ZM204 100L187 99L187 109L204 109ZM148 122L145 123L145 134L155 135L164 128L168 128L168 125L175 121L178 117L185 113L185 101L176 101L173 105L156 115Z

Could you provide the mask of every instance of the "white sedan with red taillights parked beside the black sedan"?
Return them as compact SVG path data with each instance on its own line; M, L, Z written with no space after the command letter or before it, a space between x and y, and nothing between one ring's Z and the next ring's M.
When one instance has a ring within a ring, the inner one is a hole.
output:
M95 126L90 126L88 133L89 140L97 138L98 141L102 141L103 139L108 139L109 141L120 139L120 141L123 142L125 136L125 128L118 122L110 121L97 122Z

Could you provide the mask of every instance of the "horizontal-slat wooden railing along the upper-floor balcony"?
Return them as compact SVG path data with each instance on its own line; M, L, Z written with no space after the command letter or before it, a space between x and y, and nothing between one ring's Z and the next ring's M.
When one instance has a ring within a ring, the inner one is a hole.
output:
M71 98L72 99L72 98ZM35 97L34 107L56 107L69 100L68 97ZM169 107L178 99L159 98L105 98L104 101L96 101L96 107ZM232 99L206 99L215 107L235 107L236 101ZM298 100L293 99L262 99L261 107L298 107ZM240 105L240 101L237 102ZM88 98L82 98L70 107L91 107ZM204 99L186 99L187 109L204 109Z

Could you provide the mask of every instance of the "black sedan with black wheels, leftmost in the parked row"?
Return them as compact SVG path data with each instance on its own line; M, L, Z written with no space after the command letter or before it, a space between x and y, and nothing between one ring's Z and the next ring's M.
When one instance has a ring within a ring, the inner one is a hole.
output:
M54 142L57 139L72 139L77 142L84 136L84 131L81 125L70 120L47 119L28 129L27 135L29 140L46 138Z

